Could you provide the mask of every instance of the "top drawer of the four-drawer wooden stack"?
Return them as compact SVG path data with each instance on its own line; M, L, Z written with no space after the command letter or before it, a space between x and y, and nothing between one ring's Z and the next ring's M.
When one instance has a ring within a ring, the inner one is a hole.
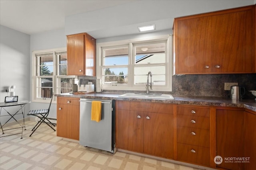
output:
M177 113L178 115L210 117L210 109L206 106L177 106Z

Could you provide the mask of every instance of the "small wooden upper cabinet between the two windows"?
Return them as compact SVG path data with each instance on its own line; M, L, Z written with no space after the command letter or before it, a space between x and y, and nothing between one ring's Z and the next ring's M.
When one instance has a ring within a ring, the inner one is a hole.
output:
M67 75L96 76L96 39L87 33L67 35Z

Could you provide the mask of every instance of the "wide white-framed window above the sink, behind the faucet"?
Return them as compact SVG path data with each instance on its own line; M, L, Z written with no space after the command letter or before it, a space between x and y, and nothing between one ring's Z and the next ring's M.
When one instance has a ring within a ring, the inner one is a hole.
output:
M97 78L102 78L103 89L145 90L150 71L152 91L171 91L171 40L171 36L166 36L165 39L116 42L116 45L98 44Z

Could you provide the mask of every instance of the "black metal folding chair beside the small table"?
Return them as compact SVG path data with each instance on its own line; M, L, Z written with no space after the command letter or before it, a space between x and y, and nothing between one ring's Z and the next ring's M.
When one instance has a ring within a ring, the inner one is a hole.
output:
M52 92L52 98L54 96L54 92ZM55 123L52 123L49 118L47 118L48 114L49 114L49 111L50 111L50 107L51 107L51 104L52 104L52 98L51 98L51 102L50 102L50 106L48 109L37 109L37 110L30 110L27 115L32 115L32 116L36 116L38 117L40 120L38 121L38 123L33 127L32 129L32 133L30 134L30 137L31 135L36 131L36 129L44 122L46 123L46 125L48 125L50 128L52 128L54 131L56 131L52 125L55 127Z

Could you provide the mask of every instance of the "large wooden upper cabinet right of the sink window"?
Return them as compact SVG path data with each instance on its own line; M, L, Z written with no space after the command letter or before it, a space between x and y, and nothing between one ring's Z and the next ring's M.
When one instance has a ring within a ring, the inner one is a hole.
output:
M175 18L174 73L256 72L254 6Z

